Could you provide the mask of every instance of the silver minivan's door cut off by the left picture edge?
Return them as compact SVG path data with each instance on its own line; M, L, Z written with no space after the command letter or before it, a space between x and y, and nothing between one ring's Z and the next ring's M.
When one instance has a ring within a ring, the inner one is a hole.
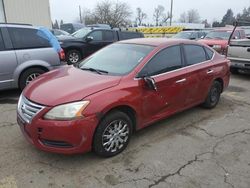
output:
M0 89L11 87L17 67L15 51L6 28L0 28Z

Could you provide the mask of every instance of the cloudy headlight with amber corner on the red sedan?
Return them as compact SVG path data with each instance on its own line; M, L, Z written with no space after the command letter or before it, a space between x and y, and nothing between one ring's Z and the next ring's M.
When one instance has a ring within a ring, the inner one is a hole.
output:
M89 101L74 102L52 108L44 118L47 120L73 120L83 117L82 112L88 106Z

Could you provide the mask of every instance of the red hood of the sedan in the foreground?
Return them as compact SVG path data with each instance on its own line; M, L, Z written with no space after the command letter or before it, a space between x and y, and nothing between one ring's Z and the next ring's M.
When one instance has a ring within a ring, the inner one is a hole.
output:
M25 88L23 94L35 103L57 106L114 87L120 80L119 76L99 75L69 66L41 75Z

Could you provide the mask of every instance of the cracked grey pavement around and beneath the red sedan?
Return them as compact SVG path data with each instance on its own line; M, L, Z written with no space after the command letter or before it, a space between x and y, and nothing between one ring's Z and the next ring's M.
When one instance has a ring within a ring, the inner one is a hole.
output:
M232 76L217 108L137 132L119 156L45 153L16 123L19 91L0 93L0 187L250 187L250 75Z

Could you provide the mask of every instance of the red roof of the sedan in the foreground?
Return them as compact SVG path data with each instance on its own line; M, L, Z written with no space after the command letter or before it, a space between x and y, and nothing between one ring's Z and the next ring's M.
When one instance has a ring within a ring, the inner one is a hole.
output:
M177 45L180 43L184 44L198 44L203 45L199 42L186 40L186 39L168 39L168 38L138 38L138 39L130 39L130 40L123 40L118 42L120 44L139 44L139 45L147 45L147 46L155 46L159 47L162 45Z

